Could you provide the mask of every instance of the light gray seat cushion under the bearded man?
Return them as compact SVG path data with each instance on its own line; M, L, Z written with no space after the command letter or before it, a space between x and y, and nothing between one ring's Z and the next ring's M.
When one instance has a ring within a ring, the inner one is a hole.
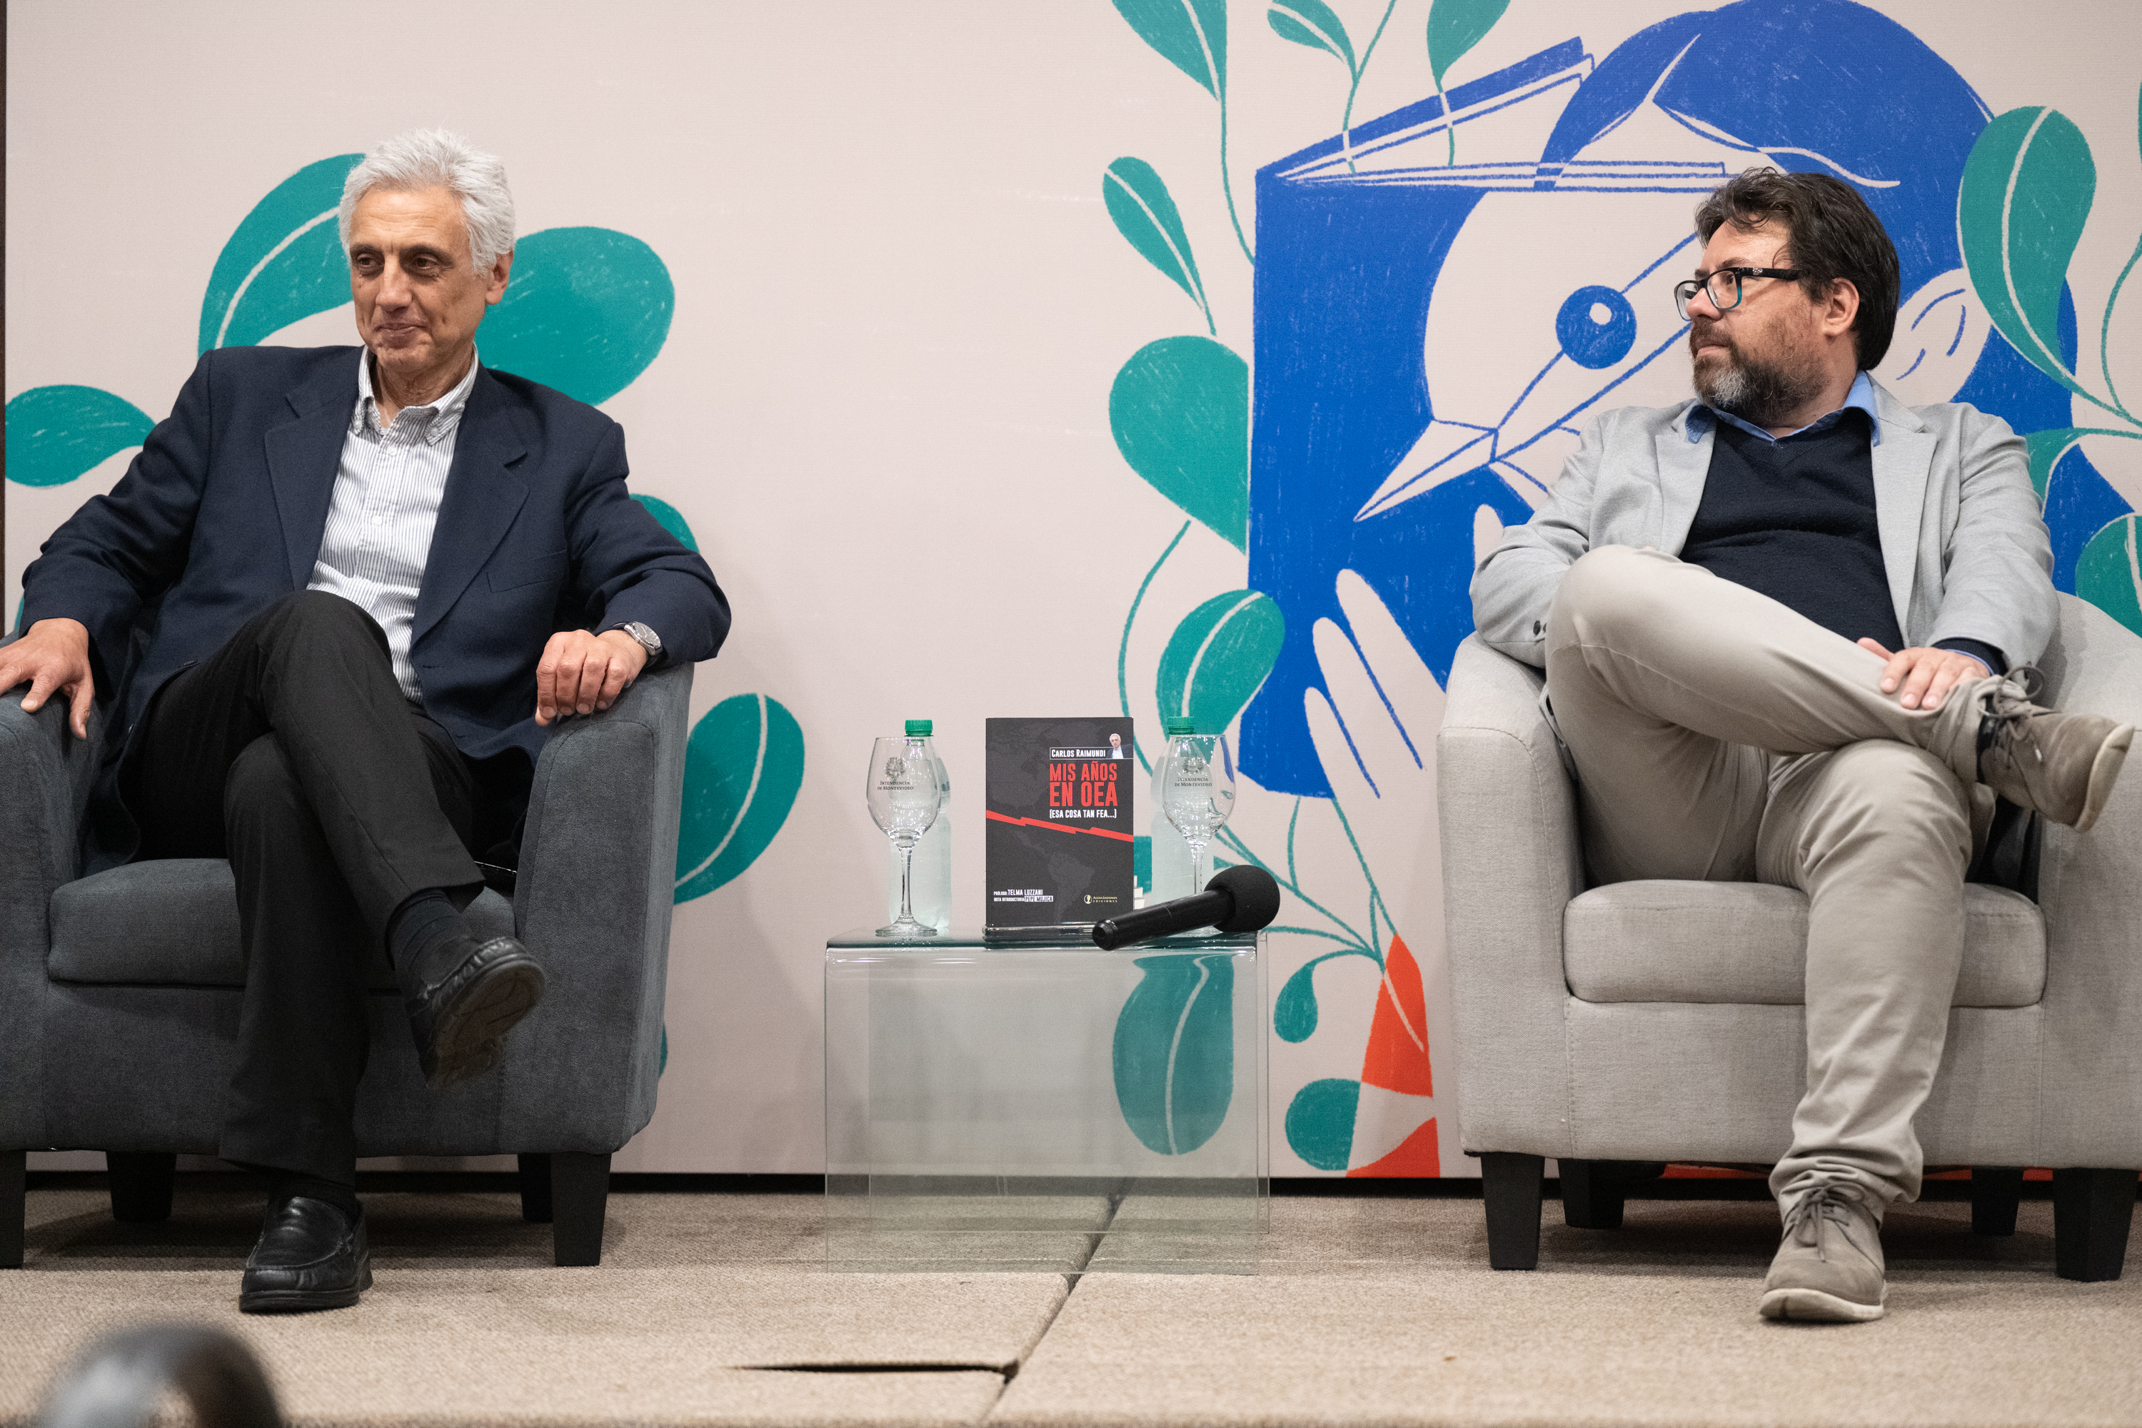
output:
M1562 972L1585 1002L1799 1006L1808 895L1761 882L1611 882L1562 912ZM1954 1006L2033 1006L2046 991L2046 918L2007 888L1964 886Z

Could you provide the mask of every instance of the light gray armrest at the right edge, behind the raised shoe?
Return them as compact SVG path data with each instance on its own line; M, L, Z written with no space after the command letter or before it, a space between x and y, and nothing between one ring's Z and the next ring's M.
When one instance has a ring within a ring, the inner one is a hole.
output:
M2063 711L2142 726L2142 638L2061 595L2043 659ZM2046 1000L2037 1165L2142 1167L2142 751L2088 833L2046 826Z

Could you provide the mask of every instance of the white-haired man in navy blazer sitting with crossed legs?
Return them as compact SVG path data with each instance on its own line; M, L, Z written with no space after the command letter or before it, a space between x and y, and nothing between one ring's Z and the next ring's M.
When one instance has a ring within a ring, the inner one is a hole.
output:
M617 424L476 358L512 272L499 161L390 139L341 231L364 345L203 355L24 572L0 649L0 689L66 696L77 736L114 696L92 867L231 861L246 991L218 1154L270 1173L248 1312L371 1285L351 1113L381 944L431 1083L497 1062L544 976L461 910L478 859L514 859L548 726L728 632L713 572L625 490Z

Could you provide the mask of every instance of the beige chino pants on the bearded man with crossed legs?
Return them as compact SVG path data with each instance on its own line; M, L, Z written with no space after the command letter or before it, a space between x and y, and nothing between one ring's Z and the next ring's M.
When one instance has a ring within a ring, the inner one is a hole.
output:
M1949 1028L1973 850L1977 702L1881 692L1883 659L1699 565L1602 546L1562 578L1547 692L1594 884L1808 895L1808 1088L1769 1186L1917 1199L1911 1118Z

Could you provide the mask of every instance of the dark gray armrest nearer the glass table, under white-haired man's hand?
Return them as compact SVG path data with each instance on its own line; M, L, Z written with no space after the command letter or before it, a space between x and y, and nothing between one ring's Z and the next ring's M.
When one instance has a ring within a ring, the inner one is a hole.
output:
M655 1111L690 702L692 666L643 674L536 764L514 925L548 987L508 1060L506 1145L606 1154Z

